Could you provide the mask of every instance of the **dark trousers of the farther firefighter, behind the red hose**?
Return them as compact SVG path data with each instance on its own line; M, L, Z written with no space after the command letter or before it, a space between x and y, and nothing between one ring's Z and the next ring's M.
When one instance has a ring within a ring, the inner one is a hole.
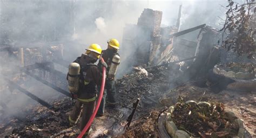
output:
M116 105L116 84L114 80L106 80L104 95L102 97L102 101L100 102L99 110L97 112L99 115L104 114L106 98L110 105Z

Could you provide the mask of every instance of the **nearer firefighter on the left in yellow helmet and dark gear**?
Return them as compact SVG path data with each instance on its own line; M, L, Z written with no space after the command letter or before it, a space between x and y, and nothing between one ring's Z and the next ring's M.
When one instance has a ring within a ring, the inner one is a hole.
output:
M71 115L69 116L69 122L71 126L75 125L83 106L80 125L81 131L89 121L93 110L95 109L97 85L100 85L100 72L97 65L94 63L100 58L101 53L102 48L100 48L96 43L93 43L86 49L85 54L77 57L74 61L80 66L79 88L77 93L73 93L71 95L72 98L77 98L77 101ZM103 66L106 67L105 62L101 60L100 62L102 62ZM91 128L87 130L85 135L88 135L90 131Z

